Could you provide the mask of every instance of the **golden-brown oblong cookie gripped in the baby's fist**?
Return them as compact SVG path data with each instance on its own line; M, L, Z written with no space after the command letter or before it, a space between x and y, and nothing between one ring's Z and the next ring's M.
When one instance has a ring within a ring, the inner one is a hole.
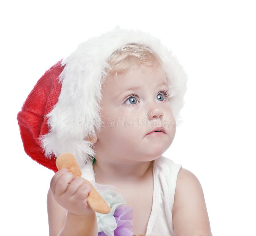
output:
M76 177L81 177L82 172L78 166L75 156L72 153L62 153L56 159L56 166L58 170L68 169ZM110 212L110 207L108 203L100 196L97 190L92 186L92 184L86 180L86 183L90 184L92 191L87 197L88 205L96 212L102 214L108 214Z

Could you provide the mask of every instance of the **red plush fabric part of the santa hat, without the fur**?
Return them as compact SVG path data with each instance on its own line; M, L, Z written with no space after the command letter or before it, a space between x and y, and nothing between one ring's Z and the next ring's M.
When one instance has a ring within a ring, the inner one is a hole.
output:
M48 118L44 116L52 110L60 95L61 83L58 76L64 68L61 67L60 62L47 70L37 81L17 115L25 152L33 160L54 172L58 171L55 156L52 154L51 159L44 156L38 137L48 133L50 128L47 127Z

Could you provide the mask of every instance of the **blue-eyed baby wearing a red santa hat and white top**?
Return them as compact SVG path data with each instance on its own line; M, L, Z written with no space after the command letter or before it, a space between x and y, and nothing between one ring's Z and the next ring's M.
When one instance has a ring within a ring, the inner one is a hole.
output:
M51 236L212 235L200 182L162 156L180 121L186 81L159 40L118 26L41 77L18 122L25 151L55 172L47 196ZM28 125L31 114L37 129ZM64 152L76 156L82 177L57 171L55 157ZM85 179L111 198L109 214L87 204Z

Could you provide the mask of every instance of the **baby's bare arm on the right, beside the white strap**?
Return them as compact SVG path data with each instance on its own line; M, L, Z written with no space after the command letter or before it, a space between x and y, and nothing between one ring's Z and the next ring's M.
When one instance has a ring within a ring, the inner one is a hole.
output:
M177 176L172 217L174 236L212 236L201 184L184 168Z

